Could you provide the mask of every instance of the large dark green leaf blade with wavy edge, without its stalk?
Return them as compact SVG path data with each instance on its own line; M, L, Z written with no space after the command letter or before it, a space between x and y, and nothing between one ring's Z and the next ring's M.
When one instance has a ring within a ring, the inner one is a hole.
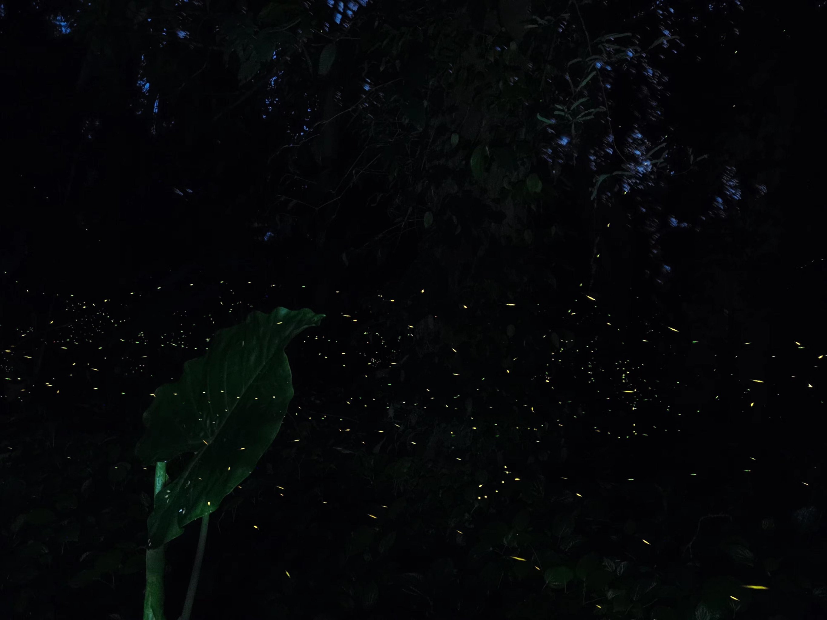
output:
M255 469L293 398L284 347L323 317L308 309L252 312L240 325L218 331L207 355L184 364L179 381L155 390L136 455L147 465L194 455L155 497L151 548L212 513Z

